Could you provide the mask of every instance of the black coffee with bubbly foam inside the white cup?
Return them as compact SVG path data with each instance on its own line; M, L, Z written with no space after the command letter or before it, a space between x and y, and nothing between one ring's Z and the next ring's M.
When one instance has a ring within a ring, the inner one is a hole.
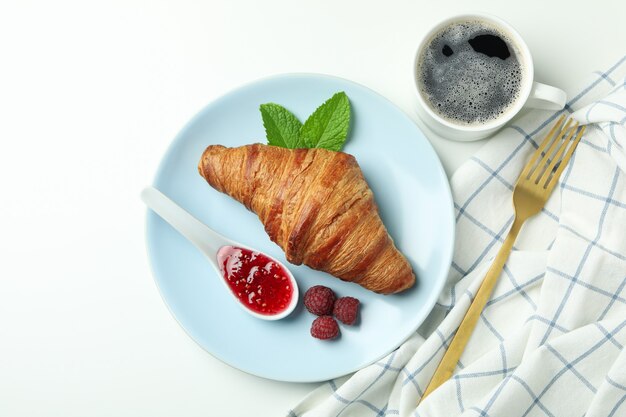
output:
M459 21L436 32L418 59L422 96L440 117L482 125L507 113L520 97L523 63L510 38L480 21Z

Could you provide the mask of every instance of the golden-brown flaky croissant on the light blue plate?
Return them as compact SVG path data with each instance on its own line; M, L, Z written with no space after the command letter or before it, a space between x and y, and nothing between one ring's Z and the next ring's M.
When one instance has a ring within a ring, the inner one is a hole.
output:
M292 264L304 263L382 294L415 283L352 155L211 145L198 171L213 188L256 213Z

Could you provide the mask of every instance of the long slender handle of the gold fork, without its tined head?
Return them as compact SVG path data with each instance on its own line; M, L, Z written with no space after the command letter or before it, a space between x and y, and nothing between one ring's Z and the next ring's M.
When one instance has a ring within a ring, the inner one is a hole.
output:
M491 292L496 286L496 282L500 277L504 263L511 253L511 248L513 248L513 243L515 243L515 239L522 228L522 224L524 224L524 220L516 216L513 221L513 225L511 226L511 230L509 230L509 234L493 260L491 267L487 271L487 275L485 275L485 278L476 293L474 301L472 301L472 304L470 304L469 309L465 313L463 321L461 321L452 342L450 342L448 350L443 355L443 358L435 370L435 373L433 374L428 387L426 387L426 391L424 391L420 401L423 401L424 398L426 398L431 392L450 379L454 373L456 365L461 358L461 354L465 349L465 345L467 345L467 342L474 331L474 327L476 327L476 323L480 318L480 314L491 297Z

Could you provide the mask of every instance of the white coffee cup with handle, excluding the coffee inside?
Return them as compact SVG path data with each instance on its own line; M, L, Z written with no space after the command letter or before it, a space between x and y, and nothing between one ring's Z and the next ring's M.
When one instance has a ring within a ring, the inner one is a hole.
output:
M517 100L509 107L502 116L487 121L485 123L461 124L445 119L435 113L435 111L427 103L427 98L422 95L418 81L418 69L420 67L420 58L423 49L426 48L434 35L446 26L463 21L479 21L484 22L488 26L493 26L506 35L519 54L518 59L522 68L522 83ZM483 139L492 135L509 120L511 120L523 107L532 107L545 110L560 110L565 106L566 94L563 90L546 84L534 81L533 59L528 50L528 46L511 25L503 20L483 13L471 13L453 16L446 19L432 29L430 29L417 48L415 58L413 60L413 84L417 94L417 113L420 118L435 133L447 139L459 141L472 141Z

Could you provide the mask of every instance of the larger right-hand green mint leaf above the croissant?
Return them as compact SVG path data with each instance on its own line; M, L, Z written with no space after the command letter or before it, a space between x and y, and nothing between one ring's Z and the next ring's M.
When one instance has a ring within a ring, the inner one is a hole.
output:
M304 122L300 137L307 148L339 151L350 127L350 101L343 91L319 106Z

